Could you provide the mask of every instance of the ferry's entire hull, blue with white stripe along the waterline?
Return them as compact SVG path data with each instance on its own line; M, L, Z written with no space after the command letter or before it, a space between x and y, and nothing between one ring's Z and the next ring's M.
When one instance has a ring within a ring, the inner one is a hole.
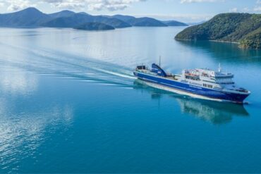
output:
M177 94L189 95L190 97L200 99L231 101L233 103L243 104L244 99L249 95L224 92L216 89L207 89L204 87L192 85L189 82L178 82L176 80L169 80L164 77L147 75L140 72L134 72L134 75L151 87L164 89L166 91L175 92Z

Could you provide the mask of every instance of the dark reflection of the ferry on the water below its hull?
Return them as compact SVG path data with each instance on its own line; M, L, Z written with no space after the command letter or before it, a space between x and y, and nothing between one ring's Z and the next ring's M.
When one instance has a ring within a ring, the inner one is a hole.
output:
M177 103L181 107L182 113L188 113L214 125L229 123L233 119L233 116L249 116L248 111L245 110L243 105L222 103L218 101L207 101L204 99L195 99L192 97L174 94L144 85L140 80L134 81L133 88L142 90L142 92L148 92L151 94L152 99L157 99L159 101L166 95L176 99Z

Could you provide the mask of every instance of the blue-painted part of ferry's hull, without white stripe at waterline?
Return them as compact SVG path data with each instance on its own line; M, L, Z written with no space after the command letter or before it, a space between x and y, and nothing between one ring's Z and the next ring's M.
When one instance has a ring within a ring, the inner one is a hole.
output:
M235 103L242 104L243 100L249 95L249 94L234 94L229 92L222 92L221 90L216 90L216 89L207 89L204 87L190 85L186 82L177 82L174 80L169 80L158 76L147 75L145 73L134 72L134 75L138 77L140 80L143 80L145 82L150 82L152 84L160 85L162 87L169 87L171 89L175 89L181 92L195 94L210 99L232 101Z

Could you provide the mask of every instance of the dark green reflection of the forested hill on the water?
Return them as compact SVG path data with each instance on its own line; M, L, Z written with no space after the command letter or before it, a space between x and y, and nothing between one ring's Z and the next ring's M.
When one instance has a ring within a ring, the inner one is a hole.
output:
M179 44L190 46L192 49L207 51L214 58L221 58L226 62L261 63L261 51L256 49L241 49L238 44L229 42L210 41L178 41Z

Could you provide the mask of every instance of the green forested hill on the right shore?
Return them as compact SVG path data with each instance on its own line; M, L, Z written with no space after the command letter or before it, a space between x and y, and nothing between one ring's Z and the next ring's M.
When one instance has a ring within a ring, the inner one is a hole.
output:
M261 49L261 14L222 13L187 27L175 39L238 42L243 48Z

